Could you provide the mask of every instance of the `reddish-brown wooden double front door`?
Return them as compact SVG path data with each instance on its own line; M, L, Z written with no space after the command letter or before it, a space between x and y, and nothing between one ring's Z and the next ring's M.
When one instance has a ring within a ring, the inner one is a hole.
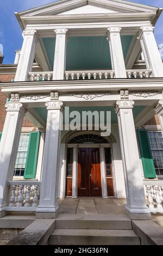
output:
M78 149L78 196L102 196L99 148Z

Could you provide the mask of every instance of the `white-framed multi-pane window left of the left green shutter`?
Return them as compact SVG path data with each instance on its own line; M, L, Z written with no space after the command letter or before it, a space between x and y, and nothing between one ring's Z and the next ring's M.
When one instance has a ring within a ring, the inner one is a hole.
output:
M29 133L21 133L20 142L18 145L14 176L23 176L26 166L26 158L29 143Z

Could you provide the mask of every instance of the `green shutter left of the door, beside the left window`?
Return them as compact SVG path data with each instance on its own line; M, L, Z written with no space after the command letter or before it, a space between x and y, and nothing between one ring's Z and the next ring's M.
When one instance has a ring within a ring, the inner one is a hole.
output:
M24 179L35 179L40 132L30 132Z

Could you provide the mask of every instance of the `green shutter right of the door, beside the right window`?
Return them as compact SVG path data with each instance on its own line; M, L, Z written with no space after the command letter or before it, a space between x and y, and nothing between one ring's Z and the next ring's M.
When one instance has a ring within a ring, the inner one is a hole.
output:
M156 178L148 132L147 130L138 129L137 134L145 178Z

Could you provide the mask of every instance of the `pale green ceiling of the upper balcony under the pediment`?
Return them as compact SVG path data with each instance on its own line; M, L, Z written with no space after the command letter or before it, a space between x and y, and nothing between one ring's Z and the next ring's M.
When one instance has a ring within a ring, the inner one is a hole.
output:
M121 35L124 59L133 35ZM53 70L55 38L42 38ZM105 36L77 36L68 38L66 70L111 69L109 44Z

